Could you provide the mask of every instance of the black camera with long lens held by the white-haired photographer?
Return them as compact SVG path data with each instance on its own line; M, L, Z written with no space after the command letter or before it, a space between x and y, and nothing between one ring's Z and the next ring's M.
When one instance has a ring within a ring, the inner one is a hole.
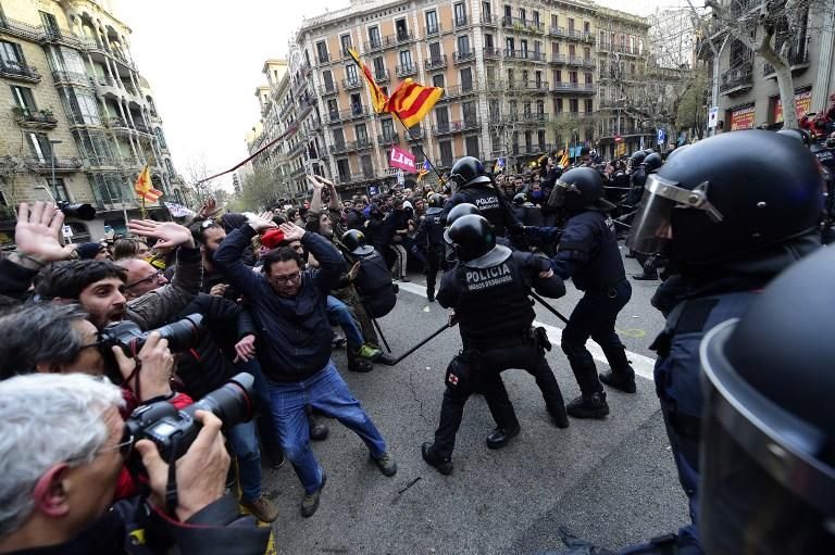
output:
M253 383L252 375L240 373L183 411L167 401L140 406L125 420L125 426L134 442L150 440L164 461L175 461L188 451L200 432L201 425L195 418L197 411L214 414L223 421L224 429L252 418Z

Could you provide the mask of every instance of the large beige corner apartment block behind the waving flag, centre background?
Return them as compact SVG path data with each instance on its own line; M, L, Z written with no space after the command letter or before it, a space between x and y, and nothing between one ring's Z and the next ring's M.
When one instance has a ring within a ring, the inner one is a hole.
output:
M289 171L300 192L303 172L332 176L350 191L395 182L392 144L418 164L425 152L441 172L463 155L522 166L565 141L593 144L603 58L598 10L579 1L353 0L304 20L289 60L295 108L287 110L295 114L281 128L299 127L301 160L290 147L283 174ZM646 26L636 27L641 31ZM391 115L373 113L348 48L387 92L411 77L444 87L444 97L407 133ZM251 142L250 152L257 147Z

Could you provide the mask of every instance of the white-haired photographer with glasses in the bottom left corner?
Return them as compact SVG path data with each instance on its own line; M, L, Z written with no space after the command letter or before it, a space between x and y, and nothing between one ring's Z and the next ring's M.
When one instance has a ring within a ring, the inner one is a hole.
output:
M115 386L73 375L0 382L0 553L97 555L264 552L269 528L240 517L224 495L229 457L221 420L198 411L202 428L176 462L176 506L166 512L169 466L157 446L136 442L150 497L108 507L134 438ZM23 444L34 449L21 449Z

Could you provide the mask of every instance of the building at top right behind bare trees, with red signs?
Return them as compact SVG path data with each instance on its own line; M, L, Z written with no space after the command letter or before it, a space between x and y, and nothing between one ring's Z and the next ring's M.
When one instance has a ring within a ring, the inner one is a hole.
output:
M759 9L751 0L736 0L728 9L743 17ZM826 110L835 92L835 2L812 3L801 20L800 31L776 30L776 40L788 47L798 117ZM721 33L720 33L721 35ZM722 43L721 36L713 37ZM723 130L782 126L783 105L773 67L731 37L719 56L719 114Z

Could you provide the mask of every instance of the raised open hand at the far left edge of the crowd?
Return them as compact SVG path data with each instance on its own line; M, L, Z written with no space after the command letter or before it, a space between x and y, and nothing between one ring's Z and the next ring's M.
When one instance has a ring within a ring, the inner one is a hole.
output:
M17 250L42 263L63 261L75 250L74 244L62 245L58 237L64 224L64 213L51 202L36 202L29 209L25 202L17 210L14 243Z

